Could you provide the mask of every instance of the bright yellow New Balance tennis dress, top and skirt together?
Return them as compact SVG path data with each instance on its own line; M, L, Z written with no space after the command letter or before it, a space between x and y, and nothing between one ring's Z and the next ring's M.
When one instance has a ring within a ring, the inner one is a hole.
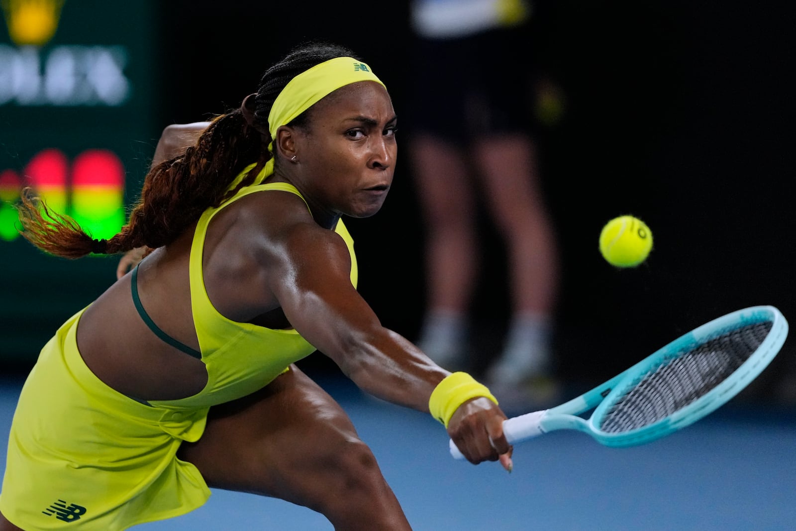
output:
M109 388L78 352L83 310L41 350L11 425L0 491L0 511L8 520L26 530L116 531L188 513L207 501L210 490L199 470L176 457L182 441L201 437L211 406L262 388L315 350L295 330L224 318L205 291L201 259L209 222L240 197L266 190L301 197L285 183L247 186L208 209L193 236L191 308L197 357L208 373L197 395L142 403ZM336 232L349 247L356 287L353 240L342 221Z

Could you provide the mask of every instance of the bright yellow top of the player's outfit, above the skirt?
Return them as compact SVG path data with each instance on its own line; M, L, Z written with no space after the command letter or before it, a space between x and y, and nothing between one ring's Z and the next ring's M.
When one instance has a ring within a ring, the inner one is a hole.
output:
M150 404L169 408L201 408L236 400L267 385L287 370L288 365L314 352L315 347L306 342L295 329L274 330L224 317L213 307L205 290L202 255L210 221L222 209L241 197L265 191L295 193L302 197L295 186L284 182L250 185L240 189L235 196L217 208L206 210L200 217L193 234L189 274L193 324L199 339L201 360L207 367L207 385L201 392L188 398L150 400ZM356 287L358 271L353 239L342 221L338 221L335 232L345 240L349 248L351 283Z

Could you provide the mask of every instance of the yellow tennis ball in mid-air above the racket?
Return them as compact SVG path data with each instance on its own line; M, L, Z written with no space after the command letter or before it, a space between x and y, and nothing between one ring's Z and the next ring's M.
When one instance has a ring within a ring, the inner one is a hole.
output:
M636 267L651 250L652 231L638 217L615 217L599 233L599 252L616 267Z

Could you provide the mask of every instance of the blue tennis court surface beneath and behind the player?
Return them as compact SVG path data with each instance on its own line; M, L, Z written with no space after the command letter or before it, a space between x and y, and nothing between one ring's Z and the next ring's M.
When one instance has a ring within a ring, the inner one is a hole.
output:
M497 463L451 459L445 431L429 416L373 400L334 375L319 381L373 448L417 531L796 528L793 412L736 400L665 439L624 449L557 431L517 446L507 474ZM3 467L20 385L6 378L0 387ZM217 490L200 510L135 529L332 527L303 507Z

